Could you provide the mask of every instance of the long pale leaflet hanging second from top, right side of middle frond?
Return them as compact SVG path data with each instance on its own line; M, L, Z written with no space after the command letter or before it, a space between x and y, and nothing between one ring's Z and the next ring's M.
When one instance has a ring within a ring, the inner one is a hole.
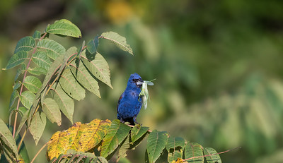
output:
M73 75L76 77L76 80L78 80L83 87L100 97L98 82L95 78L93 78L93 76L91 76L83 64L81 64L78 68L76 64L72 62L69 65L69 68L71 69L71 73L73 73Z

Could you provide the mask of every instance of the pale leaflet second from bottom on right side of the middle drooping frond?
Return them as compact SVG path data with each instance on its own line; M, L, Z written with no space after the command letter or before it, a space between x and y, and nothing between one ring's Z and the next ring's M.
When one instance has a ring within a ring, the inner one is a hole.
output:
M54 99L44 99L42 104L42 111L45 112L47 118L52 123L56 122L58 126L61 126L61 112Z

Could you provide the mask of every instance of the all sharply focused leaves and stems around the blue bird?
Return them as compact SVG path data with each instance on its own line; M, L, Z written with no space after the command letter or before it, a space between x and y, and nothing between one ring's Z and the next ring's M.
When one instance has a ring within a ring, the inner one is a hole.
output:
M110 40L120 49L133 54L125 37L115 32L105 32L89 41L87 45L83 41L79 49L70 47L67 50L58 42L50 40L50 34L81 37L79 28L69 20L57 20L54 24L47 25L42 34L35 31L33 37L23 37L19 40L13 56L4 68L8 70L20 66L9 103L8 126L11 126L11 118L15 114L13 132L8 130L4 121L0 121L1 151L8 162L25 162L18 154L18 150L24 146L23 138L27 131L33 135L37 144L45 130L46 119L60 126L62 111L72 123L74 99L83 99L86 90L100 97L98 80L112 87L108 63L103 55L98 53L99 39ZM18 115L21 116L21 122L17 128ZM17 144L14 138L19 136L24 125L25 131ZM54 133L46 144L47 159L51 159L51 162L107 162L106 159L110 159L118 150L119 160L127 156L127 150L134 149L147 135L148 162L156 162L165 149L168 152L168 162L195 158L195 148L188 146L190 143L183 138L171 138L165 131L151 132L149 128L139 125L131 128L119 120L111 122L95 119L91 123L74 123L67 131ZM187 150L185 145L190 150ZM197 147L197 157L207 157L207 162L214 162L211 160L213 155L217 155L214 149L203 149L200 145ZM98 150L100 154L96 157L86 153L90 150ZM184 150L187 154L185 157ZM191 155L192 157L187 157ZM221 160L218 155L216 159L217 162Z

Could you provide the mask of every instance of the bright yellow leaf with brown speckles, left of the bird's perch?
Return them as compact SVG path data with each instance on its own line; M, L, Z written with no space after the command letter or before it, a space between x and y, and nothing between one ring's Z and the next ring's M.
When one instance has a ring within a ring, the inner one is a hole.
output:
M90 123L74 123L66 131L57 131L52 135L47 146L47 157L59 157L66 154L67 150L86 152L98 145L110 126L110 120L94 119Z

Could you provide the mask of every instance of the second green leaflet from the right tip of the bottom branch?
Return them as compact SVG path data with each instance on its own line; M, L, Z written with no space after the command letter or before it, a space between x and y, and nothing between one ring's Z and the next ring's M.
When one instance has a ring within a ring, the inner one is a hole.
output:
M204 157L199 156L203 156L202 145L198 143L187 143L187 145L185 145L185 159L198 157L189 160L191 162L204 162Z

